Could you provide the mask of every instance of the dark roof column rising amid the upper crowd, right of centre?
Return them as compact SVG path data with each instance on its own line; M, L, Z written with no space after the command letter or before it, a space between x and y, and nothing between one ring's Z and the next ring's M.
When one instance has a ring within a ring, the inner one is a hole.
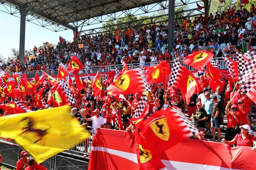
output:
M171 52L174 45L174 11L175 0L169 0L169 14L168 14L168 51Z

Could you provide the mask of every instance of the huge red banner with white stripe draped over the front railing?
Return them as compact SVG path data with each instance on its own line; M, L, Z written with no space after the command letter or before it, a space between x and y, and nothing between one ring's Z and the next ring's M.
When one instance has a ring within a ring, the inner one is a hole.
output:
M173 139L174 140L174 139ZM99 129L92 140L89 169L139 169L131 132ZM156 144L158 145L158 144ZM255 169L251 147L185 139L159 154L166 169ZM98 163L101 160L101 163Z

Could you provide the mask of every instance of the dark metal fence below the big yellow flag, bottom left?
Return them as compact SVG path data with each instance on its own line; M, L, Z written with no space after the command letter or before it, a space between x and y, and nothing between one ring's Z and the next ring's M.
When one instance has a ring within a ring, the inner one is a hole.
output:
M88 159L82 158L83 155L90 154L92 144L92 130L90 130L91 127L87 128L86 131L91 134L88 139L84 139L67 151L48 158L41 164L48 170L87 170ZM16 168L16 163L21 158L20 152L23 149L14 142L8 142L8 140L0 140L0 154L3 156L2 164ZM27 154L27 157L29 156Z

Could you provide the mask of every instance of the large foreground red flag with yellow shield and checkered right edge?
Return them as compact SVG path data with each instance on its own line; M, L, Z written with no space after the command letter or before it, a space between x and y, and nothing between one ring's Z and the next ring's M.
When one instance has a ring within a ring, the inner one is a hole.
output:
M155 112L141 123L139 130L152 155L158 155L198 133L195 125L178 108Z

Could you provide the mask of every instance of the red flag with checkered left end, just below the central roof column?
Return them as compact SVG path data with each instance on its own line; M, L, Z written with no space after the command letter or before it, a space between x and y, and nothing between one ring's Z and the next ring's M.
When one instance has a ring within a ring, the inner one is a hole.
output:
M195 76L178 62L172 65L169 85L178 88L185 95L187 103L193 94L200 91L200 85Z

